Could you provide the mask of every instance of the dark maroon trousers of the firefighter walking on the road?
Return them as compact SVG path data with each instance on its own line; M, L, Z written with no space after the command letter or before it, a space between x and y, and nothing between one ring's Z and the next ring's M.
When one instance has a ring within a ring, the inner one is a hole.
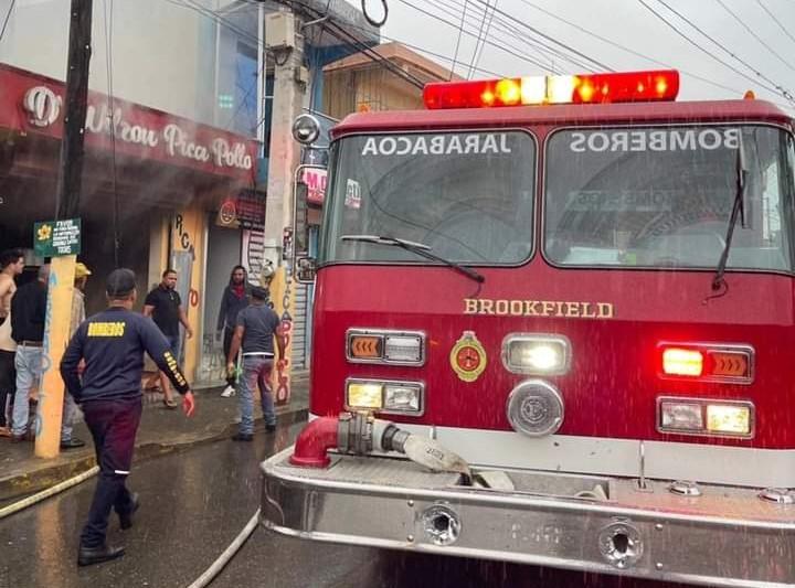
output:
M88 521L81 534L81 545L98 547L105 544L110 510L128 513L132 507L125 482L132 466L141 399L88 400L83 403L82 408L94 438L99 479L94 490Z

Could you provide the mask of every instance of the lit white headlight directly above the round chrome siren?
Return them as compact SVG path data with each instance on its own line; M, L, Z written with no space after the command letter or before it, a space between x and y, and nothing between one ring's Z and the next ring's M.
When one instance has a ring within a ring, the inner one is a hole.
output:
M569 371L570 350L562 335L511 333L502 341L502 364L515 374L561 375Z

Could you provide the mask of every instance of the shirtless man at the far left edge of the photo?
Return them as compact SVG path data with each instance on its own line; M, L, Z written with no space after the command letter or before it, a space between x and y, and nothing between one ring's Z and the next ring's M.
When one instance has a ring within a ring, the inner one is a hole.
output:
M0 437L10 435L8 428L7 398L13 398L15 388L14 353L17 343L11 339L11 297L17 291L14 278L24 269L20 249L0 254Z

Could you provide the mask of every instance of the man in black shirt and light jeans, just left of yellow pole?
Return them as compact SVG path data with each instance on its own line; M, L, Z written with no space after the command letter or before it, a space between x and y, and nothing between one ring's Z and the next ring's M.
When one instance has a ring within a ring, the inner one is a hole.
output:
M33 440L33 431L28 430L29 395L33 386L41 383L49 279L50 265L45 264L39 268L38 279L19 288L11 299L11 338L17 342L17 392L11 417L11 442Z

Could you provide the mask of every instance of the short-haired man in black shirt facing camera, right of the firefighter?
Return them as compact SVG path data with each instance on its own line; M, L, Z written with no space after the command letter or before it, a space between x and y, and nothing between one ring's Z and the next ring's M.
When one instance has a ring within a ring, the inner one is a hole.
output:
M160 332L166 335L171 354L179 362L179 325L182 323L186 328L188 339L193 336L193 330L188 323L188 317L182 309L182 300L180 300L179 292L174 290L176 287L177 271L167 269L163 271L162 281L147 295L144 301L144 316L152 318L155 324L160 329ZM163 393L163 404L168 408L177 408L177 402L171 394L169 379L162 372L160 372L160 388Z

